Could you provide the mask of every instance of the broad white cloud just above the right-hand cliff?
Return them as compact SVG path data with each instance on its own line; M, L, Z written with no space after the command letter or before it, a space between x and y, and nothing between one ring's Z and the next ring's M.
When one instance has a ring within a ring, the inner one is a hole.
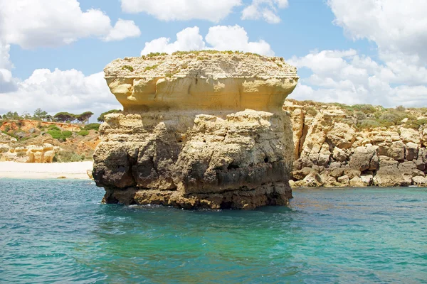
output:
M424 67L381 64L356 50L313 51L288 60L312 72L303 77L291 94L294 99L312 99L344 104L380 104L385 107L427 104L427 71Z

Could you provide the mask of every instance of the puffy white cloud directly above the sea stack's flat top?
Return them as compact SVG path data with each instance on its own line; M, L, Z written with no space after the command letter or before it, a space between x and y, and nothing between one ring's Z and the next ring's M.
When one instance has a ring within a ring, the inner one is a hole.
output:
M152 52L173 53L174 51L189 50L241 50L262 55L274 55L270 45L265 40L249 41L248 33L241 26L214 26L204 38L199 33L199 27L185 28L176 34L176 41L170 38L157 38L145 43L141 55ZM207 43L207 44L206 44Z

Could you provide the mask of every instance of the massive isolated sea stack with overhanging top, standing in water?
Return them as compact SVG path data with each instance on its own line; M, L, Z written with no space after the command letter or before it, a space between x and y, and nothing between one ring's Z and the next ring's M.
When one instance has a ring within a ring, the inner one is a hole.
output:
M104 201L182 208L287 204L297 84L280 58L186 53L115 60L107 84L125 111L100 128L93 176Z

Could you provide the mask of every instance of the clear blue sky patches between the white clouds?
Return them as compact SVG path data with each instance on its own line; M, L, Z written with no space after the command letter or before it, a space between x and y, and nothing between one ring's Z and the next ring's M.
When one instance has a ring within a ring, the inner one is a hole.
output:
M272 25L265 21L242 21L241 9L234 9L233 13L223 21L159 21L154 16L144 14L122 13L119 1L80 0L83 11L87 9L101 9L112 22L118 18L135 21L142 31L139 38L104 43L97 38L85 38L70 45L58 48L31 48L23 49L19 45L11 46L11 58L16 69L14 74L21 79L31 75L33 70L48 68L54 70L77 69L85 75L100 72L107 63L116 58L125 56L139 56L144 44L154 38L167 37L174 39L176 33L187 27L199 26L202 35L206 35L209 27L234 26L238 24L245 28L251 40L263 39L270 43L275 55L291 58L293 55L304 56L310 50L354 48L364 54L373 50L367 40L354 41L346 38L342 28L335 26L332 21L334 14L322 0L290 1L288 9L280 9L282 22ZM307 71L307 70L306 70Z

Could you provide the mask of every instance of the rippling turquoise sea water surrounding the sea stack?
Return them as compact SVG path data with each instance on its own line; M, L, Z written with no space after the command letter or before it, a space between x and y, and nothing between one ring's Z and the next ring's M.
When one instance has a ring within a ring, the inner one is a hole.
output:
M294 190L290 207L100 204L0 179L0 283L426 283L427 190Z

